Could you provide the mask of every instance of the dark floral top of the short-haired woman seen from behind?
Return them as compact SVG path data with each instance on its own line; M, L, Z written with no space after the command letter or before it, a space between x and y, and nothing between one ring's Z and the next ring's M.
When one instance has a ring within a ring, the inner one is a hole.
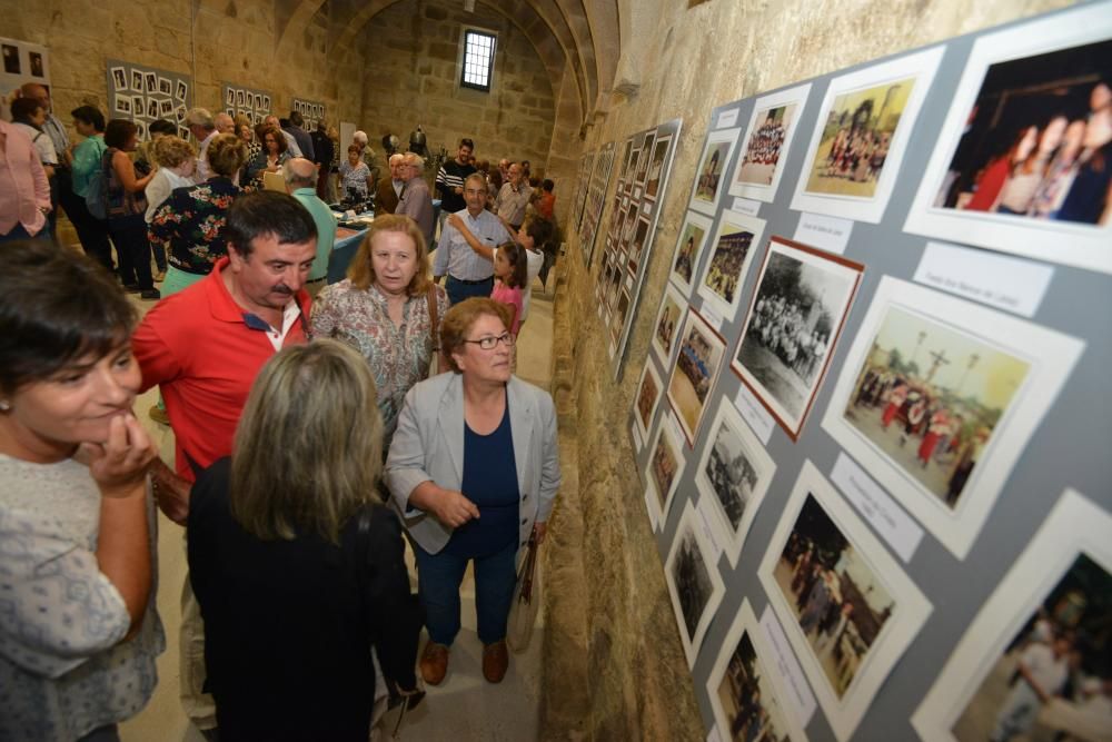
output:
M228 254L225 225L231 201L240 192L229 178L217 176L199 186L176 188L155 211L148 237L161 245L178 270L207 276Z

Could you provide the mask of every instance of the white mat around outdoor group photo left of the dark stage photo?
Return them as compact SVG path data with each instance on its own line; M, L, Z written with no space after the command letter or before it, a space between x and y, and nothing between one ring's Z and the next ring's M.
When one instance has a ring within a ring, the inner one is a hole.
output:
M825 214L842 219L868 221L871 224L881 221L884 216L884 209L888 205L888 198L892 196L892 189L895 187L900 176L900 166L903 161L907 142L911 139L912 130L915 128L919 111L923 106L923 100L926 98L927 91L931 89L931 83L934 81L934 73L937 70L939 61L942 59L944 51L944 46L932 47L831 80L830 87L826 89L826 95L823 98L822 108L818 109L818 120L815 125L815 131L811 136L807 155L803 160L803 170L800 172L795 186L795 196L792 199L793 209ZM914 78L915 82L900 115L892 141L888 144L887 155L884 158L881 175L877 178L873 195L871 197L860 197L807 190L811 172L818 156L818 148L823 142L823 132L827 126L831 108L837 98L855 91L871 90L886 82L896 82L910 78Z

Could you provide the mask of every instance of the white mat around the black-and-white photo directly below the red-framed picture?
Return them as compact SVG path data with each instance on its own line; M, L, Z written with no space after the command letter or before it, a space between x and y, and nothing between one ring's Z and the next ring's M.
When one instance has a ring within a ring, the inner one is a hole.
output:
M755 472L755 482L749 487L748 496L745 498L745 507L736 527L731 522L729 515L726 513L718 495L715 494L714 483L707 473L707 468L711 465L711 455L714 452L719 435L722 435L723 426L736 439L739 451L735 455L744 456ZM718 532L719 542L725 545L724 551L726 552L726 557L729 560L729 566L736 567L742 548L745 546L745 537L748 535L753 520L761 508L761 503L764 502L764 496L768 492L768 485L772 483L773 475L776 474L776 462L773 461L772 456L768 455L768 452L765 451L764 446L761 445L761 442L753 434L753 431L749 429L749 426L742 419L742 415L737 412L734 403L726 397L719 399L718 410L715 413L714 421L711 423L708 431L709 434L703 442L703 455L699 457L698 468L695 469L695 487L699 492L699 497L707 497L709 499L711 509L717 516L711 526Z

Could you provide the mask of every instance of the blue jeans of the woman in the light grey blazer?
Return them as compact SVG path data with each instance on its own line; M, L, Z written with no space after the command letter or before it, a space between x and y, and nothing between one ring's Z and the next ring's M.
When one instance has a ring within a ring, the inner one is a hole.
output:
M459 584L468 562L475 562L475 614L479 641L494 644L506 639L506 621L517 583L517 541L489 556L474 560L455 554L429 554L416 542L417 588L425 604L428 637L450 646L459 633Z

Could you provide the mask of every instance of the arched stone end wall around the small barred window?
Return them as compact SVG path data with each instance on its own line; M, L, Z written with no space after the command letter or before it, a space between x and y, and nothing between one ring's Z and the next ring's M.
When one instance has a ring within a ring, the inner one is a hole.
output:
M497 32L490 92L459 86L465 26ZM454 154L461 137L476 157L527 159L544 167L553 137L554 92L548 70L526 36L484 6L468 13L454 0L403 0L375 16L361 46L373 60L360 120L371 139L395 133L403 144L417 123L430 150Z

